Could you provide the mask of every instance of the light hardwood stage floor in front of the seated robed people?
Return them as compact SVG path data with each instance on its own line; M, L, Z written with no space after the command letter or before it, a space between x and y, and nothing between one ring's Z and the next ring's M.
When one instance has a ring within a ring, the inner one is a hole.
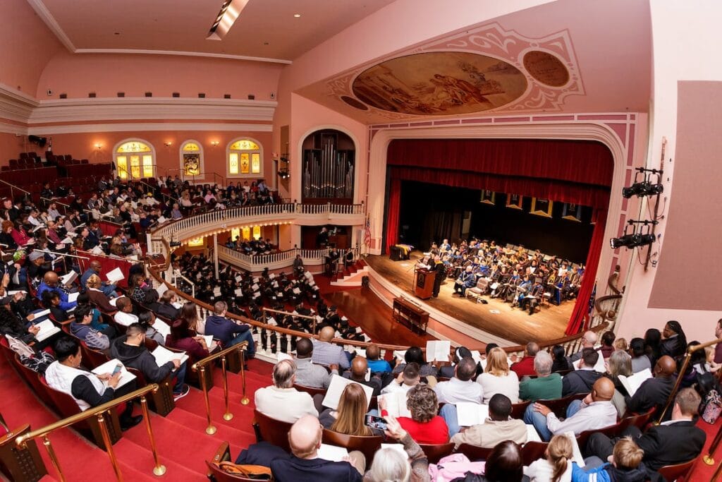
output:
M386 280L397 285L413 298L414 264L419 257L421 257L419 251L413 251L411 259L406 261L391 261L386 255L370 255L366 258L366 262ZM530 316L529 311L512 308L511 304L488 296L484 299L489 304L477 304L473 298L452 296L452 293L453 280L448 278L441 285L438 298L429 298L424 302L461 322L520 345L534 340L553 340L563 337L575 303L570 300L565 301L561 306L544 305L541 311Z

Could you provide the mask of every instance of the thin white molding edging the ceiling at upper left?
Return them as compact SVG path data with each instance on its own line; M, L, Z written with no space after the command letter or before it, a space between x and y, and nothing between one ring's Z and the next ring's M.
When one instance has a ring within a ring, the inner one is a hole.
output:
M145 50L136 48L76 48L73 42L66 35L63 28L58 24L53 14L51 14L48 7L45 7L43 0L27 0L30 7L35 10L40 20L48 25L48 28L63 43L71 53L134 53L142 55L178 55L178 56L189 56L189 57L212 57L214 59L232 59L232 60L246 60L253 62L269 62L271 64L292 64L293 62L286 59L267 59L266 57L253 57L245 55L229 55L227 53L212 53L212 52L183 52L183 51L165 51L165 50Z

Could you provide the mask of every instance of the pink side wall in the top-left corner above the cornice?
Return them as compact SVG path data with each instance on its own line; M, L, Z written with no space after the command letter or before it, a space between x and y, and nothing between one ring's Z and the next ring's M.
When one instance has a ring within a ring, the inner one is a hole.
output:
M64 47L25 0L0 1L0 82L35 95L45 64Z

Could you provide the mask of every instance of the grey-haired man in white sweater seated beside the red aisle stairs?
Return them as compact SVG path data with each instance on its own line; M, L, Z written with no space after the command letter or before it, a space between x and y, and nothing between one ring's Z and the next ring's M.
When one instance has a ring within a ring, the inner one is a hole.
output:
M318 417L313 399L306 392L293 387L296 381L296 365L282 360L273 368L273 385L256 390L256 409L271 418L293 423L304 415Z

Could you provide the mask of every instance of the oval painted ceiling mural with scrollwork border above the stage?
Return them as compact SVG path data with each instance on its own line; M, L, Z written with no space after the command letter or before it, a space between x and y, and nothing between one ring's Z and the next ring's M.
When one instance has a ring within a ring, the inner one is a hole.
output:
M557 112L568 95L586 95L567 30L527 38L497 23L431 40L299 93L369 123Z

